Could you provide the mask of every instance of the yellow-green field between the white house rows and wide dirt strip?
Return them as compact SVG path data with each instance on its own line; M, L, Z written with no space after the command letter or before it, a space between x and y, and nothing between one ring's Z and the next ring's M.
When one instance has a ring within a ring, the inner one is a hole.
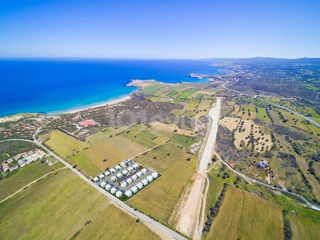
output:
M172 143L166 144L173 145ZM172 148L171 146L166 147L172 149L169 157L166 156L167 151L153 149L146 155L141 155L139 158L134 159L159 171L162 176L130 198L128 203L168 223L174 205L179 200L183 188L188 185L195 172L197 161L196 157L176 146ZM157 159L153 159L154 155L157 155ZM164 158L164 156L167 158ZM188 157L191 158L190 161L186 160ZM157 161L155 162L155 160Z

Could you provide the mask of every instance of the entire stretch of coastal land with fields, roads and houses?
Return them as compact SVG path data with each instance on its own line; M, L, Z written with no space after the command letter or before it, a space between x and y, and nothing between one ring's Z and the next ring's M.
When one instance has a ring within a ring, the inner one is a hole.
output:
M319 239L320 61L211 62L227 72L0 118L0 238Z

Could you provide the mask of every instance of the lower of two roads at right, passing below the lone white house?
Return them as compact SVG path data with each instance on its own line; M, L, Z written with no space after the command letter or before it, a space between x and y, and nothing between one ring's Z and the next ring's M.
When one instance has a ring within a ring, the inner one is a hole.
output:
M221 161L223 161L223 160L221 159L221 157L220 157L217 153L215 153L215 154L219 157L219 159L220 159ZM282 191L282 192L284 192L284 193L286 193L286 194L289 194L289 195L291 195L291 196L295 196L295 197L299 198L300 200L304 201L305 204L306 204L308 207L320 211L320 206L317 206L317 205L312 204L312 203L309 202L307 199L305 199L303 196L300 196L300 195L298 195L298 194L296 194L296 193L294 193L294 192L290 192L290 191L288 191L288 190L286 190L286 189L282 189L282 188L275 187L275 186L273 186L273 185L271 185L271 184L268 184L268 183L266 183L266 182L264 182L264 181L260 181L260 180L258 180L258 179L252 178L252 177L250 177L250 176L244 175L243 173L241 173L241 172L235 170L234 168L232 168L232 167L231 167L229 164L227 164L225 161L223 161L223 163L224 163L230 170L232 170L233 172L235 172L236 174L238 174L239 176L241 176L241 177L243 177L243 178L245 178L245 179L248 179L248 180L253 181L253 182L257 182L257 183L259 183L259 184L261 184L261 185L264 185L264 186L267 186L267 187L269 187L269 188L271 188L271 189L273 189L273 190Z

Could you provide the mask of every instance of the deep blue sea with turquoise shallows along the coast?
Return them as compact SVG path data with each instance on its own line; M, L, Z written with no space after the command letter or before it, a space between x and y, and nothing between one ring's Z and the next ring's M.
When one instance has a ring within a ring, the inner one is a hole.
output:
M196 82L189 73L218 74L208 60L2 59L0 116L63 112L135 91L131 79ZM202 79L205 81L205 79Z

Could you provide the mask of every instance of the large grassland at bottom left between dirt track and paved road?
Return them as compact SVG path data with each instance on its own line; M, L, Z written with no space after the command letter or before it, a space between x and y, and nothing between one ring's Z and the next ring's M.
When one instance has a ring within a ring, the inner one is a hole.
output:
M130 223L125 226L132 234L130 239L159 239L110 206L108 198L69 169L48 175L0 203L0 212L1 239L70 239L90 221L80 232L82 239L95 239L94 234L101 239L127 239L123 238L123 222ZM99 231L91 232L90 227Z

